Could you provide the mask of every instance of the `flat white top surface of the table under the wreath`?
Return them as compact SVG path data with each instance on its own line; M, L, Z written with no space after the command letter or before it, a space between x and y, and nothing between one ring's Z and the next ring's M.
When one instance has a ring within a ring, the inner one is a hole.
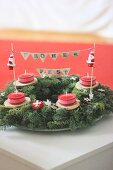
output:
M75 132L31 132L9 128L0 132L0 152L40 170L60 170L113 147L113 116Z

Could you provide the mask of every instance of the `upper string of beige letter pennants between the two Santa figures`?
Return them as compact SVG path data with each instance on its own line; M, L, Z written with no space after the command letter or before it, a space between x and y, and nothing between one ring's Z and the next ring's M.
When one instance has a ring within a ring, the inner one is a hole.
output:
M69 55L72 55L73 57L79 56L81 51L89 51L92 48L87 48L83 50L76 50L76 51L69 51L69 52L53 52L53 53L31 53L31 52L20 52L24 60L27 60L29 56L31 55L34 60L40 58L42 62L45 61L46 57L49 55L53 60L56 60L58 55L61 55L63 58L67 58Z

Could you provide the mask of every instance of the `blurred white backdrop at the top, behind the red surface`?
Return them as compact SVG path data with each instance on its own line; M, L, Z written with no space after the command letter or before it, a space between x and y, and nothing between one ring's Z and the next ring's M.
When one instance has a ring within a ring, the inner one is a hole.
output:
M113 37L113 0L0 0L0 29Z

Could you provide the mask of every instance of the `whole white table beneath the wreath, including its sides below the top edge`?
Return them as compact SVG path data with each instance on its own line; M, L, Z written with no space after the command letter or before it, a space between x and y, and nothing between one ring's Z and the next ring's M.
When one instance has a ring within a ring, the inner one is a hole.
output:
M113 170L113 116L76 132L0 132L0 170Z

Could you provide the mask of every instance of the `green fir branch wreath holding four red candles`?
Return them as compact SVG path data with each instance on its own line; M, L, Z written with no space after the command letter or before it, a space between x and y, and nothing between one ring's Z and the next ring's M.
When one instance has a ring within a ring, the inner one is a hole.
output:
M73 78L72 78L73 77ZM77 75L68 77L37 77L37 83L25 87L18 87L29 96L31 102L18 108L5 108L4 101L7 95L14 91L13 83L9 84L0 95L0 126L22 127L30 130L76 130L93 125L103 116L113 112L113 91L99 84L93 89L93 100L87 100L89 90L75 88L79 80ZM80 106L73 110L66 110L55 106L58 95L66 91L75 93L80 100ZM42 108L33 109L35 99L51 100L52 104L44 104Z

